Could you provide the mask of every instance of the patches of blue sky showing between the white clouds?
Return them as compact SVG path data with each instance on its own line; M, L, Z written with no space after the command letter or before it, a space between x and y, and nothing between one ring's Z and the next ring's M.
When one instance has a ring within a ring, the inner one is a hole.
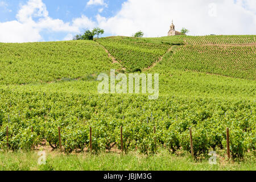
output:
M16 14L18 13L22 5L26 5L27 0L0 0L0 2L2 2L2 6L0 3L0 22L8 22L16 20ZM96 21L96 15L99 13L99 10L101 9L102 16L106 18L114 16L121 9L122 3L125 2L125 0L105 1L106 5L108 6L87 6L86 4L88 3L88 1L85 0L43 0L42 2L46 5L47 11L51 18L61 19L64 22L71 22L72 19L80 17L81 15L85 15L87 17L90 17L90 19L92 19L93 21ZM38 18L34 19L37 20ZM65 37L66 32L58 32L57 34L53 34L49 31L43 31L41 32L41 35L44 41L62 40ZM108 34L107 32L103 36L109 35L110 34Z

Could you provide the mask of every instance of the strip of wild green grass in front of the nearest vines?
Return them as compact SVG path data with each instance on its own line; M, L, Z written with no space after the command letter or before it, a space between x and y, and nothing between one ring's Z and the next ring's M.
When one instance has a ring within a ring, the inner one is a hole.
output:
M1 171L255 171L254 159L243 162L227 162L217 159L216 165L208 160L194 161L187 154L176 156L167 151L157 155L139 154L63 155L49 152L46 164L38 164L38 152L0 152Z

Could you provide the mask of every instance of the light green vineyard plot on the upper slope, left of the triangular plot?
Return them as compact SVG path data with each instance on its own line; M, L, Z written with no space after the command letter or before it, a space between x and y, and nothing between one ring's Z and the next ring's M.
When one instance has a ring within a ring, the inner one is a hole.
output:
M118 68L92 41L0 43L0 84L51 82Z

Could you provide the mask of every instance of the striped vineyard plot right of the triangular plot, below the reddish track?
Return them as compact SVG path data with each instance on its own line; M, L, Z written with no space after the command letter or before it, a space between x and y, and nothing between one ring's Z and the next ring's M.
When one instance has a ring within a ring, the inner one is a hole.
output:
M170 57L169 67L255 80L255 46L184 46Z

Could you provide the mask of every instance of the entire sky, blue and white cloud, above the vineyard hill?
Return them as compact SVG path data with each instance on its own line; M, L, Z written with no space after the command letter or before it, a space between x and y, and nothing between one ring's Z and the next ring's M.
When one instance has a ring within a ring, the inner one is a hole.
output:
M102 36L167 36L172 20L188 35L256 35L255 0L0 0L0 42L72 40L100 27Z

